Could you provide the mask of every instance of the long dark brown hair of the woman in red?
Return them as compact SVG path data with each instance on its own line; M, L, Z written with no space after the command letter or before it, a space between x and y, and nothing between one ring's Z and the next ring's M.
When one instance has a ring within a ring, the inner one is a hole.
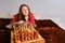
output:
M30 9L29 9L29 6L27 5L27 4L22 4L21 6L20 6L20 10L18 10L18 14L17 14L17 22L18 20L25 20L25 16L24 16L24 14L23 14L23 12L22 12L22 8L23 6L27 6L27 9L28 9L28 16L29 16L29 14L30 14ZM28 18L28 20L29 20L29 18Z

